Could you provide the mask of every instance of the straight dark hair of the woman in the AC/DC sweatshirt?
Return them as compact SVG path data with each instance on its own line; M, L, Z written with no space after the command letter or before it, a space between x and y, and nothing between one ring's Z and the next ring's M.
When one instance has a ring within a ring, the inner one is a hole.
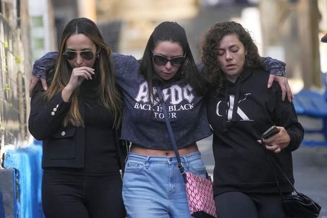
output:
M179 68L175 78L173 79L185 79L192 86L192 88L195 89L195 91L201 95L204 95L205 77L200 74L197 66L195 66L184 28L176 22L165 21L159 24L150 35L143 57L140 60L140 73L147 80L149 96L153 97L153 87L158 85L158 82L163 82L162 79L155 73L154 63L152 62L153 54L151 52L151 50L154 50L161 41L179 43L185 54L184 64Z

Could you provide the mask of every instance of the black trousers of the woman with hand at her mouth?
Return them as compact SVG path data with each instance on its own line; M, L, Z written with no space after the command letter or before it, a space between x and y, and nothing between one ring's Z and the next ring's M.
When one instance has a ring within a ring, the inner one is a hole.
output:
M43 173L42 209L45 216L125 217L120 175L80 176Z

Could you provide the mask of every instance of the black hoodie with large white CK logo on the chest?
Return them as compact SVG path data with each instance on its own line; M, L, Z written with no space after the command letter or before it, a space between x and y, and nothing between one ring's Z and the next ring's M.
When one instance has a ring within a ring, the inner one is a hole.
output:
M272 167L263 147L256 142L272 125L283 126L290 144L271 154L294 183L291 151L297 149L304 130L298 122L293 103L281 100L277 82L267 88L269 73L260 69L244 70L235 83L207 100L207 116L213 128L215 159L214 194L227 191L278 192ZM292 187L277 172L283 192Z

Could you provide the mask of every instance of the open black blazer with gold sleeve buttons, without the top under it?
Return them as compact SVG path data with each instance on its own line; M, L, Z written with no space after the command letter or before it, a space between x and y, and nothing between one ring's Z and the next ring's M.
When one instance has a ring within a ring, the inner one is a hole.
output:
M84 167L84 128L68 125L62 126L71 102L64 102L61 92L45 105L42 98L41 82L36 85L31 98L29 131L42 143L42 168L45 167ZM84 98L79 98L79 110L84 118ZM119 140L120 131L115 130L116 154L120 167L124 169L128 142Z

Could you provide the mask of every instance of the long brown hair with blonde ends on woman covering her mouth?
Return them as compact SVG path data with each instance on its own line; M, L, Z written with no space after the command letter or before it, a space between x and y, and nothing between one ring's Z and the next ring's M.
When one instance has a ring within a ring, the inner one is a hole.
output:
M97 60L94 68L99 69L100 86L98 95L101 104L113 113L114 126L118 128L122 116L122 95L116 84L116 74L112 63L112 51L105 43L96 24L88 18L72 19L64 28L61 39L58 58L54 71L54 76L49 90L45 93L45 100L49 102L58 92L68 84L72 69L63 57L67 39L74 34L84 34L88 36L96 45ZM98 53L99 52L99 53ZM63 125L71 123L74 126L84 126L83 119L78 108L78 95L80 88L76 88L71 96L72 105L66 117L63 119Z

